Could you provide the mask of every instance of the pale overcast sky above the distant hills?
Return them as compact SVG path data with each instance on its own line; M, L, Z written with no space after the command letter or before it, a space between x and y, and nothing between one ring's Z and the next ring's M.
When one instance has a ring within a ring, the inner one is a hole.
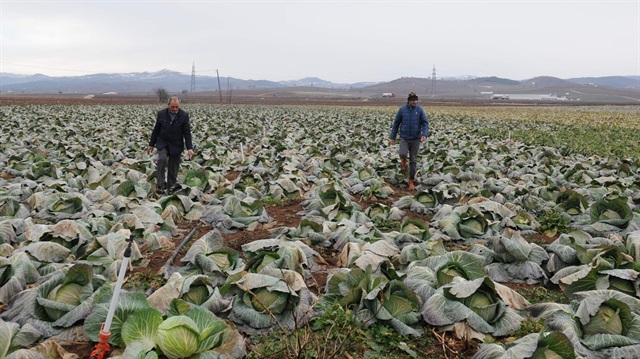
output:
M0 72L341 83L640 75L640 0L0 0Z

